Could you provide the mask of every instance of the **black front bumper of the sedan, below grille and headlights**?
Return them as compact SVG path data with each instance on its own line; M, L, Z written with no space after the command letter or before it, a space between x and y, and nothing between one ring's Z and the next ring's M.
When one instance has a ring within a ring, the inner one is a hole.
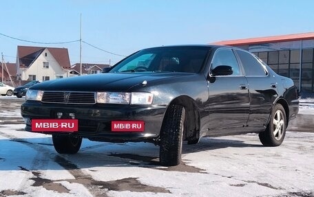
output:
M75 114L79 120L79 131L72 135L93 141L154 141L158 138L166 106L132 106L120 104L43 104L25 102L21 105L21 115L25 119L25 130L32 131L32 119L69 118L58 117ZM112 121L144 121L143 132L112 132ZM68 135L65 132L44 132L45 134Z

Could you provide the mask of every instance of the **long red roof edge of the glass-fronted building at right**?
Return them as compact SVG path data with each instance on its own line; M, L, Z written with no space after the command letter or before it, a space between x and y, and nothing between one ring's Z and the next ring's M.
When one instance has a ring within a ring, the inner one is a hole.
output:
M289 42L295 40L311 40L314 39L314 32L304 33L304 34L289 34L282 36L268 36L260 38L247 38L247 39L238 39L238 40L223 40L220 42L212 43L213 45L231 45L231 46L240 46L240 45L253 45L253 44L262 44L262 43L281 43Z

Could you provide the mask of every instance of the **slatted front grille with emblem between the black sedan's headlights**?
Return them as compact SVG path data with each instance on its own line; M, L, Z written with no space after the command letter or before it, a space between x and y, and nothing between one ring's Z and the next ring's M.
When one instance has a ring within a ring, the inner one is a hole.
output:
M95 104L94 92L44 91L41 102L58 104Z

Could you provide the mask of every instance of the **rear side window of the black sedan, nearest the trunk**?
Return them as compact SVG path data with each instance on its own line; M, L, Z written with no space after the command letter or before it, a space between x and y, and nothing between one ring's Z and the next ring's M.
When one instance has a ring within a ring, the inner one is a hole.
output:
M258 62L256 58L254 58L253 55L249 54L246 51L242 50L236 50L244 71L245 71L245 76L266 76L267 71L262 65L262 63Z

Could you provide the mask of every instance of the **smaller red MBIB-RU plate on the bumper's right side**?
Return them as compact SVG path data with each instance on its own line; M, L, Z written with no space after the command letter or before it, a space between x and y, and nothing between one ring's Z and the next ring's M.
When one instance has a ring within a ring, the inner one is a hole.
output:
M143 132L144 121L112 121L113 132Z

